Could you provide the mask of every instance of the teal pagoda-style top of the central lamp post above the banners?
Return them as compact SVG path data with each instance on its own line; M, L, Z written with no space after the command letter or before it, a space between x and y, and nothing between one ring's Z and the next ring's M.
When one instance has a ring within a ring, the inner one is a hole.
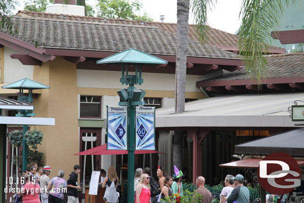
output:
M145 63L145 64L167 64L168 61L137 50L130 48L117 54L100 59L97 64L103 63Z

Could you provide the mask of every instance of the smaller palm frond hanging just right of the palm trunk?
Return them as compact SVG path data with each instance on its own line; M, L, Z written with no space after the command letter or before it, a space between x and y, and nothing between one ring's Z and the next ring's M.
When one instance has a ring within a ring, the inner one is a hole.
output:
M214 6L216 0L192 0L190 2L199 39L205 43L208 40L207 11Z

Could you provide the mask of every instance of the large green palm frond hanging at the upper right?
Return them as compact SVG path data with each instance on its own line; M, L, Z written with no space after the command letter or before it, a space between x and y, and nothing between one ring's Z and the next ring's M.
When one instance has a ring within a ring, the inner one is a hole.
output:
M244 56L247 73L258 81L267 74L266 54L269 54L271 31L277 30L284 8L295 0L243 0L240 11L240 54Z

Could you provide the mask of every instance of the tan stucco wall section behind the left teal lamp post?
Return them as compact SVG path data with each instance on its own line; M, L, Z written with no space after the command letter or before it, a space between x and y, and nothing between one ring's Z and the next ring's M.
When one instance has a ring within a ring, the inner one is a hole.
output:
M57 56L56 60L35 66L33 80L48 85L34 100L36 117L55 118L55 126L36 126L44 133L38 150L44 152L44 164L51 166L51 177L64 170L65 177L79 164L76 65Z

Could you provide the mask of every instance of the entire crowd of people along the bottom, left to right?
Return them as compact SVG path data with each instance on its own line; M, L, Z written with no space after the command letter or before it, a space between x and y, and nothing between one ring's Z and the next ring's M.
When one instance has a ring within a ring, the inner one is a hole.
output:
M49 178L51 173L50 166L38 167L36 163L32 163L28 171L24 171L23 190L17 193L18 197L22 197L22 203L63 203L64 193L67 195L67 203L79 203L78 190L82 186L78 186L78 175L81 167L75 165L73 172L69 175L68 181L63 179L64 171L60 170L58 176ZM106 188L103 200L105 203L118 203L119 193L117 187L119 178L114 167L108 169L108 173L100 170L101 182L99 186ZM157 167L157 180L151 176L151 169L136 169L134 178L134 195L135 203L161 203L164 200L179 203L183 194L182 178L185 177L182 171L178 170L174 165L174 174L168 176L165 169L161 166ZM244 186L244 176L238 174L235 177L227 175L224 180L225 187L220 193L220 203L249 203L250 193ZM201 203L211 203L212 194L205 188L205 178L198 176L195 180L197 189L195 190L202 199ZM173 198L173 199L172 199ZM266 197L267 203L273 203L274 196Z

